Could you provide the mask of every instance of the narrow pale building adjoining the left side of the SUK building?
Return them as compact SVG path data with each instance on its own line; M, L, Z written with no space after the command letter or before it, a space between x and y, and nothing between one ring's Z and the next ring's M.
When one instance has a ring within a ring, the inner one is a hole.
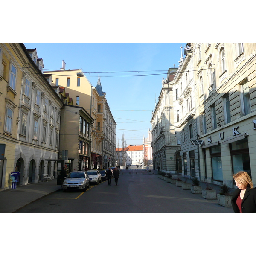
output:
M198 137L197 105L195 101L197 90L194 84L193 58L191 51L186 49L185 58L183 58L183 47L181 46L180 49L179 68L173 81L173 128L177 143L180 145L180 152L175 155L176 169L184 177L199 178L199 147L191 143L191 140L196 140Z

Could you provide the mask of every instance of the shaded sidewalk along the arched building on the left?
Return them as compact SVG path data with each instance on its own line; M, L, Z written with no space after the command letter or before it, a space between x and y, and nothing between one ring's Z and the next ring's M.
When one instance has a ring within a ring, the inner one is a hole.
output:
M0 213L15 213L18 209L32 203L45 195L61 189L56 185L57 179L17 186L0 192Z

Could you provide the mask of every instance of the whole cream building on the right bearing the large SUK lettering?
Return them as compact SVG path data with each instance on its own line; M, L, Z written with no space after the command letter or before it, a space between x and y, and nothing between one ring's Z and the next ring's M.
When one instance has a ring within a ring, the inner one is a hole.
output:
M191 43L197 90L201 180L256 184L256 43Z

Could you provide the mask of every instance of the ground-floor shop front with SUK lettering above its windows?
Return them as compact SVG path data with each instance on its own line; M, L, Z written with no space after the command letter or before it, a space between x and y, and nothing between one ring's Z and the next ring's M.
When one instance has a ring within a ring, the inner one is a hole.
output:
M256 115L250 113L200 140L201 181L235 188L233 174L247 172L256 185Z

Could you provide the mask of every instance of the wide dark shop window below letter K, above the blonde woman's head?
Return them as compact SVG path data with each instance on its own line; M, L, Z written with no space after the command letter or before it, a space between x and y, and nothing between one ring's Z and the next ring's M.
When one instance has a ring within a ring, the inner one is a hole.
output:
M244 171L251 176L247 138L230 143L230 155L232 159L233 173Z

